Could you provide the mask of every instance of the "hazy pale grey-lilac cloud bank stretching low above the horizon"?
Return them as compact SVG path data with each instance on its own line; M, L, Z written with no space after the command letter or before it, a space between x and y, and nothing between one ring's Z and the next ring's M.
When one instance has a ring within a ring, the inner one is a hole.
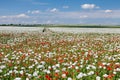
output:
M29 10L22 14L0 16L0 23L26 24L119 24L120 10L46 11Z

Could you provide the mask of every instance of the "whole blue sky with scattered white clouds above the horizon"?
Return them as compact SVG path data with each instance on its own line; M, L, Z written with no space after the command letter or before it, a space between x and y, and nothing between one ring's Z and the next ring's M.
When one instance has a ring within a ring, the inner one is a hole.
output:
M0 24L120 24L120 0L0 0Z

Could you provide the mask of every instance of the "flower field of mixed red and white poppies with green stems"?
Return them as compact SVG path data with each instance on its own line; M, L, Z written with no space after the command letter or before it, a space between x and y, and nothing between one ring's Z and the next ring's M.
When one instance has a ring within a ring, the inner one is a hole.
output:
M120 80L120 34L1 32L0 80Z

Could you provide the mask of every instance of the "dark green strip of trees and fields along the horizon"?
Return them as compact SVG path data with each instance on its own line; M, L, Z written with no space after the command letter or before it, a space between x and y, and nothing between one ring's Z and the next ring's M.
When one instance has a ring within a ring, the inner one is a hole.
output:
M0 24L0 26L18 27L73 27L73 28L120 28L120 25L70 25L70 24Z

